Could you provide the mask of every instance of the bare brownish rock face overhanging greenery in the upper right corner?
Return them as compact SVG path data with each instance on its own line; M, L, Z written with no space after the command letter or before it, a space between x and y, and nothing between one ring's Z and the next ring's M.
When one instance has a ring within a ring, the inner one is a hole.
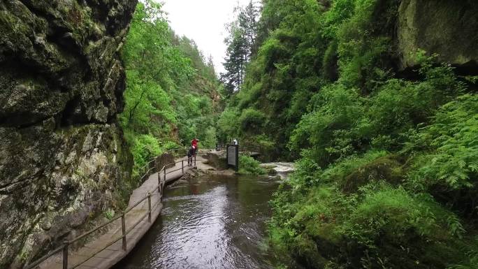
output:
M399 10L401 67L416 66L417 49L455 66L478 68L478 5L474 0L403 0Z

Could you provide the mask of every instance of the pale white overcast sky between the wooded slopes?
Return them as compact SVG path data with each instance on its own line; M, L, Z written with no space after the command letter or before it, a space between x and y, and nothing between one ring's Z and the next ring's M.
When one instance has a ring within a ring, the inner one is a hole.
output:
M159 1L159 0L158 0ZM224 71L225 24L233 20L234 8L250 0L162 0L171 28L180 36L194 39L206 59L212 55L216 73Z

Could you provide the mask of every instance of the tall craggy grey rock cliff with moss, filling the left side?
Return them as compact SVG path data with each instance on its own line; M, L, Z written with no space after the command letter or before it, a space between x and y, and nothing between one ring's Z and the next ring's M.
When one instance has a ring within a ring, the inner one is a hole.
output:
M45 254L127 193L118 51L135 6L0 1L0 268Z

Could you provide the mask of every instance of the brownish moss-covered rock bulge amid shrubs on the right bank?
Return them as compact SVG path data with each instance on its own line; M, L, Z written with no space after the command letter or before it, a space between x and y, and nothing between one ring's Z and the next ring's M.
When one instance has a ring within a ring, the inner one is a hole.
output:
M353 193L372 181L384 180L391 184L399 184L403 180L403 159L396 155L388 155L357 168L347 175L342 182L345 193Z

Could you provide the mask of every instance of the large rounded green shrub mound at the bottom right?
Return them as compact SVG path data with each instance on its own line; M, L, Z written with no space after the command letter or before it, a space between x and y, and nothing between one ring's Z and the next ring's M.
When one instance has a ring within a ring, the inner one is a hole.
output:
M359 244L352 252L362 255L362 266L382 260L386 267L444 268L465 257L460 248L470 246L461 240L461 222L430 196L412 196L386 184L362 191L363 198L338 230Z

